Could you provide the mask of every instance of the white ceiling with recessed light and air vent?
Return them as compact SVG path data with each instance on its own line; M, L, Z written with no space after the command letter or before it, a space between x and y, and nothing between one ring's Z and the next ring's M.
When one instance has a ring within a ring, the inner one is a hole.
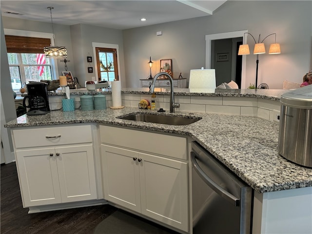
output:
M24 20L129 29L210 16L226 0L0 0L1 14ZM10 12L10 13L8 13ZM146 18L146 21L141 21Z

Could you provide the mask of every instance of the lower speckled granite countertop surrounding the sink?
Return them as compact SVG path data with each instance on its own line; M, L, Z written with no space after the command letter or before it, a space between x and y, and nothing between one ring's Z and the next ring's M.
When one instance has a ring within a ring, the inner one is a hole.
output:
M258 117L185 112L166 112L165 115L202 119L190 125L173 126L116 118L137 112L137 108L51 111L41 116L23 115L8 122L5 127L99 123L186 135L193 137L258 193L312 186L312 168L292 163L277 153L276 122ZM155 111L143 112L159 115Z

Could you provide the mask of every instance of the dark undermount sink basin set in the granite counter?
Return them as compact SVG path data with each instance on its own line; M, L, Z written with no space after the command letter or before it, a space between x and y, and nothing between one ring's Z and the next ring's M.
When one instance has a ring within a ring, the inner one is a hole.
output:
M166 116L161 114L153 115L146 113L132 113L130 115L117 118L149 123L169 124L169 125L188 125L191 123L195 123L196 121L201 119L201 117L195 116Z

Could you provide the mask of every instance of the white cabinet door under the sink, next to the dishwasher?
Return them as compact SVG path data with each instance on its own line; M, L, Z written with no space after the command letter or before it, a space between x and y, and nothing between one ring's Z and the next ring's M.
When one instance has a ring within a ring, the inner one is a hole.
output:
M187 232L187 163L142 153L138 158L141 213Z

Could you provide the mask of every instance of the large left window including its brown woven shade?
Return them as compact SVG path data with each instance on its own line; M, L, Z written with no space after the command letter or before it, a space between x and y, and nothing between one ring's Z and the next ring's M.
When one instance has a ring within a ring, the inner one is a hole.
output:
M21 86L30 81L53 79L54 61L43 54L50 39L5 35L5 42L14 91L19 93Z

